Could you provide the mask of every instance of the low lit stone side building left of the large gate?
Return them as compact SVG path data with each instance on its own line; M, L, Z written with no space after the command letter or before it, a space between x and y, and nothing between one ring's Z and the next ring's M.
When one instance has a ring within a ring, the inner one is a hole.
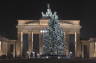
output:
M16 54L16 40L9 40L5 37L0 36L0 56L2 55L13 55Z

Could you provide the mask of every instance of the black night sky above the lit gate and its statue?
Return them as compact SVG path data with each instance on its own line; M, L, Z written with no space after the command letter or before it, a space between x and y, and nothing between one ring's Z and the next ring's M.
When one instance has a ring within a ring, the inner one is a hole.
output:
M0 35L16 39L18 19L40 19L49 3L57 11L59 19L79 19L81 39L96 37L96 2L85 0L22 0L0 2Z

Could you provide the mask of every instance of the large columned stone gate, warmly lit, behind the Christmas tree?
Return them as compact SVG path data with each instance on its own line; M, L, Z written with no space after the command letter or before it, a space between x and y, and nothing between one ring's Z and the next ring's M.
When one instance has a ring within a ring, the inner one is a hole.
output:
M73 52L74 56L80 56L80 20L60 20L60 26L64 29L64 55ZM43 54L43 30L48 27L48 19L18 20L16 43L16 55L22 56L27 51Z

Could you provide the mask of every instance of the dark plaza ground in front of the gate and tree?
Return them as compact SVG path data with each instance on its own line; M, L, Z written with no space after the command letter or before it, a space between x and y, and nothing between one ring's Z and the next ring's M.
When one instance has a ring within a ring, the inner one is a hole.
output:
M17 58L17 59L0 59L0 63L96 63L95 59L28 59L28 58Z

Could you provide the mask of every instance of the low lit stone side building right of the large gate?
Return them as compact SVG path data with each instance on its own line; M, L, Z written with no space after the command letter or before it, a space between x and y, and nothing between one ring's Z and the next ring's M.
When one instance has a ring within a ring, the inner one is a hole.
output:
M93 58L96 57L96 38L89 40L81 40L81 57Z

